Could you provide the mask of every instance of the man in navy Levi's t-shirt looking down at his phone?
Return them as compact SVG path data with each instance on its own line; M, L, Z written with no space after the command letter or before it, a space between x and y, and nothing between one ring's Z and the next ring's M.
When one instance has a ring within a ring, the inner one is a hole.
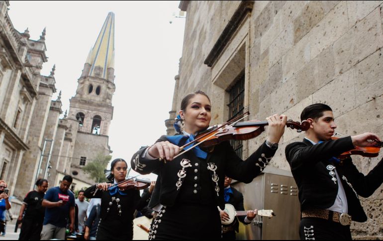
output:
M71 233L74 231L75 195L69 190L72 181L72 176L66 175L59 187L52 187L45 193L42 202L42 206L45 207L45 217L41 240L65 240L68 216L71 219L69 229Z

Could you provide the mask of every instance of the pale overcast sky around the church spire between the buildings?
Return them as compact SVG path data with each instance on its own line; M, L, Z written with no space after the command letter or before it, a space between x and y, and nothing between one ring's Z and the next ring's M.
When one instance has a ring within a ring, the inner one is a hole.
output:
M182 55L184 18L180 1L10 1L9 17L19 32L29 28L37 40L46 27L48 62L56 64L57 94L63 111L76 94L89 50L109 11L115 14L113 120L109 129L112 159L130 162L141 147L166 134L175 75ZM169 21L172 21L170 24ZM63 115L61 115L63 117Z

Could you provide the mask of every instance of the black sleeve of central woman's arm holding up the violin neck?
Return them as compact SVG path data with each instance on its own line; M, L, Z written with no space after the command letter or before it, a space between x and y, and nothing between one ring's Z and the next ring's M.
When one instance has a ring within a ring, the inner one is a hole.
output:
M277 151L269 148L264 142L246 161L243 161L234 152L229 142L225 142L223 148L227 150L225 153L225 173L227 176L244 183L250 183L261 173Z

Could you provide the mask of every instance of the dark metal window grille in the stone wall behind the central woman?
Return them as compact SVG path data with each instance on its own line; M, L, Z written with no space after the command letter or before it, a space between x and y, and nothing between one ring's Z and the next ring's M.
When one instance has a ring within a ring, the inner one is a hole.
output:
M245 74L241 74L233 87L228 91L230 93L229 99L229 120L243 114L244 106L244 93L245 93ZM242 158L243 141L230 140L238 157Z

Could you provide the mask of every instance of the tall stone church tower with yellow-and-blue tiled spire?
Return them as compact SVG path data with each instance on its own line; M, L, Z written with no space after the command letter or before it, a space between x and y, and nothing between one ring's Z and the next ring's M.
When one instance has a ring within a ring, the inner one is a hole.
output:
M114 13L109 12L88 54L76 95L70 99L67 119L71 128L66 137L71 139L68 154L72 160L65 161L64 169L73 175L78 173L76 178L87 176L81 169L97 155L111 153L108 132L114 91Z

